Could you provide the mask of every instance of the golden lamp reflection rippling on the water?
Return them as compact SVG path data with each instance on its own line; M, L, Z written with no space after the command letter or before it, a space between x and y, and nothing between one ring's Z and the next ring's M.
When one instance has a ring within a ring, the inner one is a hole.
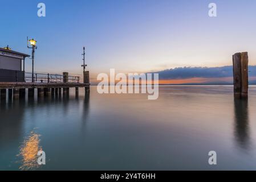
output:
M21 158L21 166L19 169L26 171L26 170L33 170L39 166L38 160L38 151L42 150L39 146L40 143L40 135L36 134L34 131L31 131L30 135L25 138L22 146L20 147L18 157Z

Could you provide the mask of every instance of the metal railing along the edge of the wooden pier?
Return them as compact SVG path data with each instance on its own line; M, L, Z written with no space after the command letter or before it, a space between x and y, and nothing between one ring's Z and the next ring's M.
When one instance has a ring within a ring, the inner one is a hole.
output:
M25 73L25 81L32 82L32 73ZM34 81L42 83L60 83L63 82L63 75L50 73L34 73ZM68 76L68 82L79 83L79 76Z

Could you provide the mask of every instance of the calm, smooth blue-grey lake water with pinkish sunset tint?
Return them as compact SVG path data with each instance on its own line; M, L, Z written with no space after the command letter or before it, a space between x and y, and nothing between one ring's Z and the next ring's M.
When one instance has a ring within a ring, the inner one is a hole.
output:
M256 169L256 86L248 101L232 86L159 89L158 100L91 86L90 96L1 101L0 169Z

